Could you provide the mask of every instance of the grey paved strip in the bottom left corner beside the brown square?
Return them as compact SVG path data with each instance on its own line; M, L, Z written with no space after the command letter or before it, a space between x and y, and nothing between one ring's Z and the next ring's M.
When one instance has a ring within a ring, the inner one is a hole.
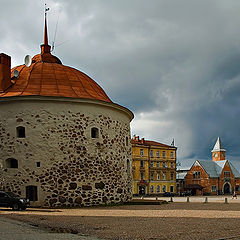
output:
M51 233L30 224L0 217L1 240L100 240L94 237L84 237L70 233Z

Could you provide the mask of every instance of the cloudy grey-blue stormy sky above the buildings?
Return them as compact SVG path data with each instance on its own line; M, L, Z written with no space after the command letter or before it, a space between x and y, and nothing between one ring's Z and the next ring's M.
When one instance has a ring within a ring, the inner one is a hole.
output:
M240 169L240 1L0 0L0 51L39 53L44 3L54 54L135 114L132 135L170 144L189 166L220 136Z

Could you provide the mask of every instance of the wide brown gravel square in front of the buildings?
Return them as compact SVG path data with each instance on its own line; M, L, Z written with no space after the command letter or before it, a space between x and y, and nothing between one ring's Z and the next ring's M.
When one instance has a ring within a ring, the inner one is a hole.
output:
M37 209L0 215L54 232L101 239L240 239L240 203L123 205L78 209Z

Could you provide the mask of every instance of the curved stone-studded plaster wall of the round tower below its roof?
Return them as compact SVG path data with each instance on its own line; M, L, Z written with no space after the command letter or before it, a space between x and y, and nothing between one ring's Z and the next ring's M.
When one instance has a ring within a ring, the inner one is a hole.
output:
M25 197L26 186L37 186L38 201L31 204L38 206L129 201L129 122L114 107L92 103L0 102L0 189ZM25 138L17 138L18 126ZM92 127L99 138L91 138ZM8 158L18 168L8 168Z

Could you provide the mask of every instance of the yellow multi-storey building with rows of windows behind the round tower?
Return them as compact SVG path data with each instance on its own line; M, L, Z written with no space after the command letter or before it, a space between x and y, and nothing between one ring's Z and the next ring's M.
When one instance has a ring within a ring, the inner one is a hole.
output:
M133 194L176 193L177 148L138 136L131 143Z

